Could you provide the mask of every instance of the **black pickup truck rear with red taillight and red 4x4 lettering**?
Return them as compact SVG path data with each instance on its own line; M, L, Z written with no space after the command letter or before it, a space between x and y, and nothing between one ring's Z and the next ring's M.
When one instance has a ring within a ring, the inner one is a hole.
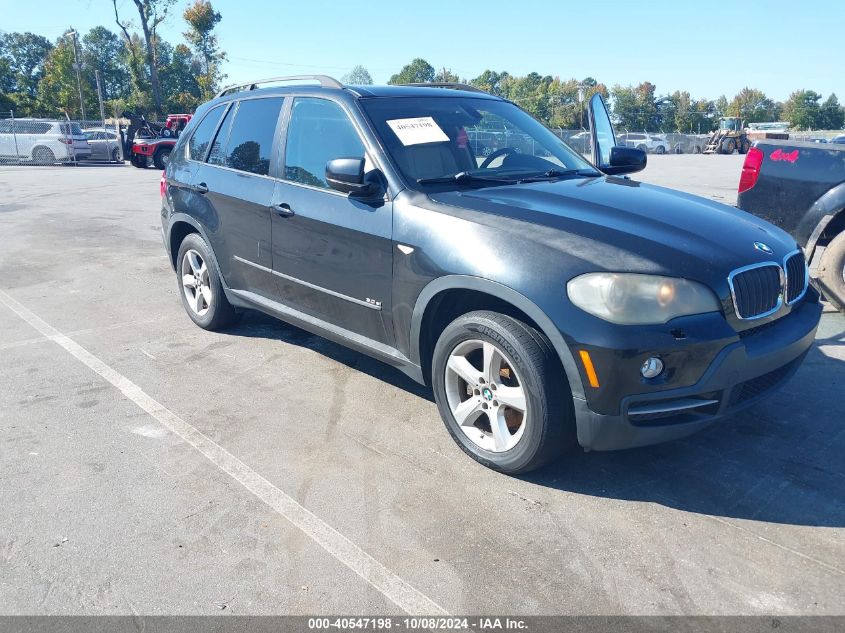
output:
M845 145L757 141L737 206L791 233L827 300L845 311Z

